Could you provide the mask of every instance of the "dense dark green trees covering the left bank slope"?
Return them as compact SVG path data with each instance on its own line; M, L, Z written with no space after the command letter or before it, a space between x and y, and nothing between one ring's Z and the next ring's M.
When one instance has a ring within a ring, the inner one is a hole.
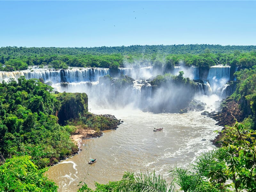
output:
M73 128L58 124L60 101L52 87L20 77L0 84L0 152L4 158L31 156L39 168L75 153L69 139Z

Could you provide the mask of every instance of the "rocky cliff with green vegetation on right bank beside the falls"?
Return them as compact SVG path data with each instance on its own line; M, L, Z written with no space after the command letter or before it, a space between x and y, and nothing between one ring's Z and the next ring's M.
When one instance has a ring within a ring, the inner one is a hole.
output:
M210 114L219 125L233 126L236 121L247 127L256 126L256 66L241 69L236 76L235 92L221 103L221 112Z

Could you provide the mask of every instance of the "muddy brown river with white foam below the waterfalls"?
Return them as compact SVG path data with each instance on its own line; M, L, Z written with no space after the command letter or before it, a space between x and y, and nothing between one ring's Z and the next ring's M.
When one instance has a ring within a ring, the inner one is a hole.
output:
M79 154L45 173L59 186L59 192L75 192L80 181L95 189L94 181L106 184L121 180L124 172L155 170L170 183L170 167L187 166L200 153L215 148L210 140L215 138L215 130L221 130L215 120L196 111L153 114L131 108L92 108L91 112L112 114L124 123L102 137L82 140ZM153 131L161 127L163 131ZM91 158L97 158L97 162L88 164Z

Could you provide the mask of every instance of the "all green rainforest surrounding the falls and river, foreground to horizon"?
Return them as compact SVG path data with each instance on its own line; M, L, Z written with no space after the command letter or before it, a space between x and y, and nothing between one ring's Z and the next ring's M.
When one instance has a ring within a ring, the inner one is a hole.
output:
M218 119L233 119L222 130L220 148L203 153L189 167L170 168L169 175L174 180L169 184L155 172L138 175L126 172L120 181L110 181L108 184L96 182L95 190L81 181L78 191L166 192L181 189L185 192L238 192L244 189L252 192L256 191L255 50L256 46L221 45L2 47L0 70L22 70L31 65L117 68L125 64L149 64L172 68L179 63L200 67L216 64L242 67L234 74L235 92L221 103L221 111L217 114ZM113 83L110 76L100 81ZM130 84L131 81L125 77L116 84ZM151 84L166 86L165 82L170 81L185 84L187 88L194 85L190 79L183 78L182 72L179 76L157 76ZM20 77L18 82L14 79L3 81L0 84L0 99L0 191L57 191L58 187L47 180L43 173L47 166L77 152L77 146L69 139L70 134L77 127L93 127L99 132L111 127L111 117L95 116L88 112L86 94L54 93L52 87L37 79ZM69 102L71 105L68 105ZM74 103L79 103L78 112L65 116L65 110L74 107Z

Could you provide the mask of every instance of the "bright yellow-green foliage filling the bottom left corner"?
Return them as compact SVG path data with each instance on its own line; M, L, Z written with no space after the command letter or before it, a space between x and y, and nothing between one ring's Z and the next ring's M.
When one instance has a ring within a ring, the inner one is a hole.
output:
M6 159L0 166L0 191L56 191L58 186L43 175L46 169L38 170L29 156Z

